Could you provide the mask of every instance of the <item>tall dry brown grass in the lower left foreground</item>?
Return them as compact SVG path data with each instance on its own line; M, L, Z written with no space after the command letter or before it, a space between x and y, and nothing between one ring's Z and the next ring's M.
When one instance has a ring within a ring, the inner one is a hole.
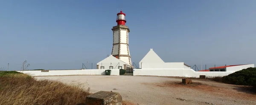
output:
M76 105L85 102L89 90L20 73L0 76L1 105Z

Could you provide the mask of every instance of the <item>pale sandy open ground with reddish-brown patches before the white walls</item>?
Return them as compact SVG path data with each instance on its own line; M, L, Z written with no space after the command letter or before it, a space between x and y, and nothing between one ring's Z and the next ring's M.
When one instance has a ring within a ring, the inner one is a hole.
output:
M256 95L242 88L205 79L192 79L182 85L177 77L150 76L51 76L37 79L60 80L81 85L92 93L113 91L127 105L256 105Z

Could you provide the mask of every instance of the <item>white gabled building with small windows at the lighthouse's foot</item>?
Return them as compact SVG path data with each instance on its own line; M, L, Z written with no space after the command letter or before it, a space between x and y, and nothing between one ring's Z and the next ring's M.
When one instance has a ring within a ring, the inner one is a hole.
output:
M131 69L131 66L122 60L113 57L110 55L109 57L105 58L104 60L97 63L97 69Z

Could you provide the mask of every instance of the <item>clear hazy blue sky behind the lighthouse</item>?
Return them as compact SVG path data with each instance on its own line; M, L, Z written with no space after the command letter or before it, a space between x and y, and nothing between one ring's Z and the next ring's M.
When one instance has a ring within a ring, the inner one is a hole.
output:
M111 54L116 13L131 60L150 48L165 62L256 64L255 0L1 0L0 67L79 69ZM90 67L90 66L89 66ZM91 67L90 67L91 68Z

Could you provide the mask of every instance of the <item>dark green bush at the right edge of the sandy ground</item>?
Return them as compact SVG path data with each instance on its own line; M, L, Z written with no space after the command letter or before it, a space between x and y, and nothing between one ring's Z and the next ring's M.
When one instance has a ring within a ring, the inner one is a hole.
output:
M256 88L256 68L246 68L222 77L222 82L234 85L249 85Z

